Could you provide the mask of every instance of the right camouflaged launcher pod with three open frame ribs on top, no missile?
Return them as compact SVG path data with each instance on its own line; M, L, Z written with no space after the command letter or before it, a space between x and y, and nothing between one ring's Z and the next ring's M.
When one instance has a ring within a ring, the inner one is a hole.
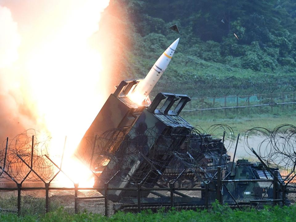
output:
M166 101L161 108L156 109L164 99ZM178 100L175 109L170 110ZM166 174L174 152L180 149L193 128L179 116L188 101L190 98L186 95L158 93L116 148L117 152L96 180L95 187L103 187L106 181L110 187L121 188L135 187L137 183L151 188L157 184ZM110 191L108 195L113 201L120 201L124 196L135 198L137 193ZM146 192L144 196L148 195Z

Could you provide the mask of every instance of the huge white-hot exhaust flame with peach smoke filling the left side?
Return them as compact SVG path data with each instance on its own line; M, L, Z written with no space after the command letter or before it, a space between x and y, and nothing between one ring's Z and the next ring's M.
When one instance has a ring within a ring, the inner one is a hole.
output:
M102 94L107 90L101 84L106 81L101 54L92 37L109 0L1 4L0 104L5 109L0 115L6 120L1 120L3 129L13 127L0 135L27 128L49 135L49 155L56 162L67 135L63 171L80 186L92 186L88 167L71 156L107 96Z

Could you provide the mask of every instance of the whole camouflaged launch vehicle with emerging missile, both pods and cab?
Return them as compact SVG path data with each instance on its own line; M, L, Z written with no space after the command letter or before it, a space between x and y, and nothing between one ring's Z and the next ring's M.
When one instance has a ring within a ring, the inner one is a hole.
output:
M236 166L231 165L222 139L200 132L183 119L180 113L191 101L187 95L160 92L150 104L148 94L167 68L178 42L179 39L167 48L145 79L121 81L77 148L76 156L87 162L96 175L94 187L105 195L102 188L107 185L108 199L121 204L117 209L138 203L139 189L142 189L141 202L148 207L153 203L169 205L168 188L172 184L188 190L210 184L215 190L217 167L229 172L226 179L270 177L262 166L254 163L239 161ZM233 204L229 198L233 192L242 203L246 196L260 198L264 192L270 198L271 190L265 185L258 183L250 188L245 182L237 184L228 184L222 190L225 203ZM179 206L205 203L200 190L195 195L171 192ZM208 197L216 199L216 195Z

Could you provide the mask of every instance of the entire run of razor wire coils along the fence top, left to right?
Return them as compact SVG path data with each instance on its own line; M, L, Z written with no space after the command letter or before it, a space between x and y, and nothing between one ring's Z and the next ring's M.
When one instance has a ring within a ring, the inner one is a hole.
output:
M109 181L113 175L116 175L113 180L117 183L153 186L171 182L191 186L203 180L215 179L216 167L209 166L207 161L213 158L215 162L227 165L223 155L227 155L234 145L232 128L217 124L204 130L199 126L188 127L174 121L166 124L174 127L122 127L97 135L94 143L91 143L93 140L90 138L85 138L86 147L79 158L90 167L96 166L92 170L99 172L97 181L102 183ZM262 141L254 148L269 167L295 171L295 126L284 124L273 130L261 127L248 130L245 133L245 150L252 156L254 154L250 151L252 147L249 139L253 134L262 137ZM7 148L6 141L3 142L0 164L7 174L2 171L0 179L11 180L12 177L18 182L40 181L35 173L29 174L30 166L45 181L54 176L56 167L45 157L49 155L51 138L39 141L39 136L39 132L31 129L10 140ZM228 141L226 146L222 137Z

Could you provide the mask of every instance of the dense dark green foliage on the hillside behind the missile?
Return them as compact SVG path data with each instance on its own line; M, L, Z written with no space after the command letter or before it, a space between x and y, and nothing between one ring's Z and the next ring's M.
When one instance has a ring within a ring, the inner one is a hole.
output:
M232 94L294 90L295 9L293 0L126 0L122 10L130 28L123 33L131 47L121 74L145 76L180 37L155 92L214 96L229 89ZM168 29L175 23L180 34Z

